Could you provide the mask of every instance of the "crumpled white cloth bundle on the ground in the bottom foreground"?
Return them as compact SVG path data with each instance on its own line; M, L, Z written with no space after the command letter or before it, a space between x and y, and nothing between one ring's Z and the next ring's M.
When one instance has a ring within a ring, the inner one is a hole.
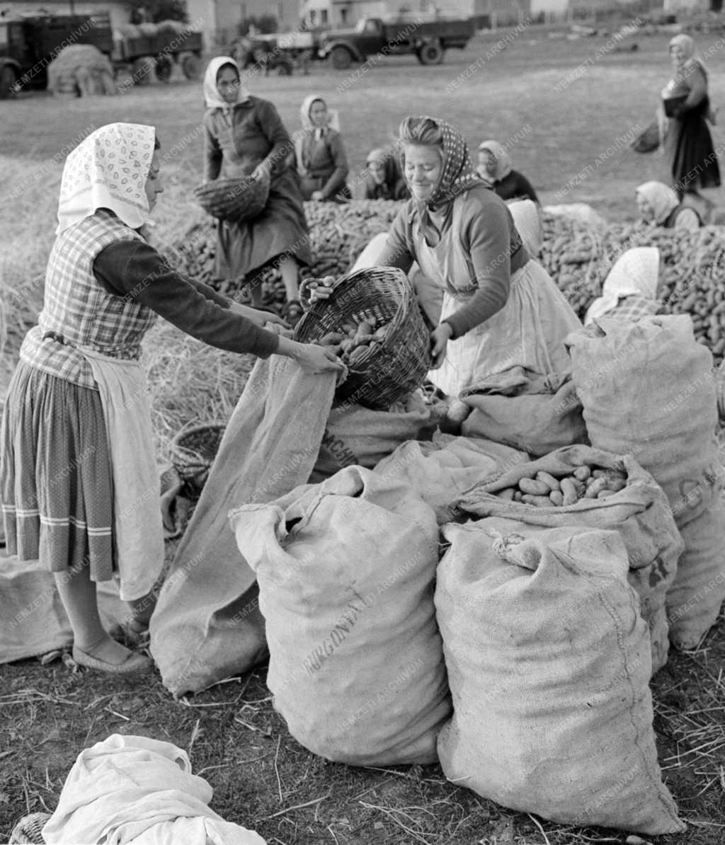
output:
M265 845L211 810L212 794L176 745L113 733L81 751L43 838L50 845Z

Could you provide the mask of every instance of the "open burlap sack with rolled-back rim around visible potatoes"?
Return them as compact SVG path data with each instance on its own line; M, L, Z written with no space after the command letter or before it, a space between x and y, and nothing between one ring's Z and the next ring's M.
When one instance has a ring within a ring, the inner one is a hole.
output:
M606 499L580 499L567 507L550 508L507 502L496 495L499 490L514 487L521 478L535 477L537 472L563 477L585 465L624 472L626 488ZM457 507L477 517L501 516L531 526L579 525L618 531L630 562L627 579L640 597L642 618L650 628L652 673L664 666L668 657L665 597L684 544L662 488L636 461L590 446L569 446L489 478L467 491Z

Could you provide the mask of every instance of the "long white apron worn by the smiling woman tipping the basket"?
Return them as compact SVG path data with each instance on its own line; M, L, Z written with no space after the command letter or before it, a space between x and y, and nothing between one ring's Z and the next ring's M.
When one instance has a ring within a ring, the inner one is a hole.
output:
M465 196L454 200L451 224L435 247L428 246L422 232L415 233L417 263L444 292L441 320L476 292L471 285L475 272L459 236ZM444 363L431 370L428 379L446 395L457 397L480 379L512 367L542 375L564 373L570 369L564 338L580 328L564 294L541 264L530 260L511 276L504 307L466 335L448 341Z

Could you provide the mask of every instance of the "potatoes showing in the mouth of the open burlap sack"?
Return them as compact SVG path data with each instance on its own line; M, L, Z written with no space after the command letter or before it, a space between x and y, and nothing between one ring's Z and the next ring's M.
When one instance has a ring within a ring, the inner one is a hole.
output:
M559 478L549 472L537 472L533 478L521 478L515 487L494 493L509 502L533 504L537 508L567 508L580 499L606 499L627 486L624 472L593 466L577 466Z

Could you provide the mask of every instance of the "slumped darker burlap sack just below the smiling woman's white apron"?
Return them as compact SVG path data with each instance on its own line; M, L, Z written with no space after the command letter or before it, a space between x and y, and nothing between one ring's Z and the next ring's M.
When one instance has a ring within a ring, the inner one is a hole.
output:
M473 408L461 425L466 437L504 443L532 457L589 443L569 373L542 376L516 367L465 390L461 401Z

